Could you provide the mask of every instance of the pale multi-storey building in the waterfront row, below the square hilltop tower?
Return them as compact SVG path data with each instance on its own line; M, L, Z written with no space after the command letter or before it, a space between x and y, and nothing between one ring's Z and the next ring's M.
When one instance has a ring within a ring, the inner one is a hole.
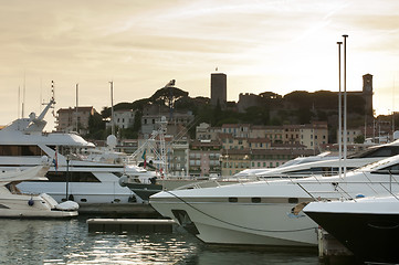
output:
M212 140L193 140L190 144L190 176L220 176L221 144Z

